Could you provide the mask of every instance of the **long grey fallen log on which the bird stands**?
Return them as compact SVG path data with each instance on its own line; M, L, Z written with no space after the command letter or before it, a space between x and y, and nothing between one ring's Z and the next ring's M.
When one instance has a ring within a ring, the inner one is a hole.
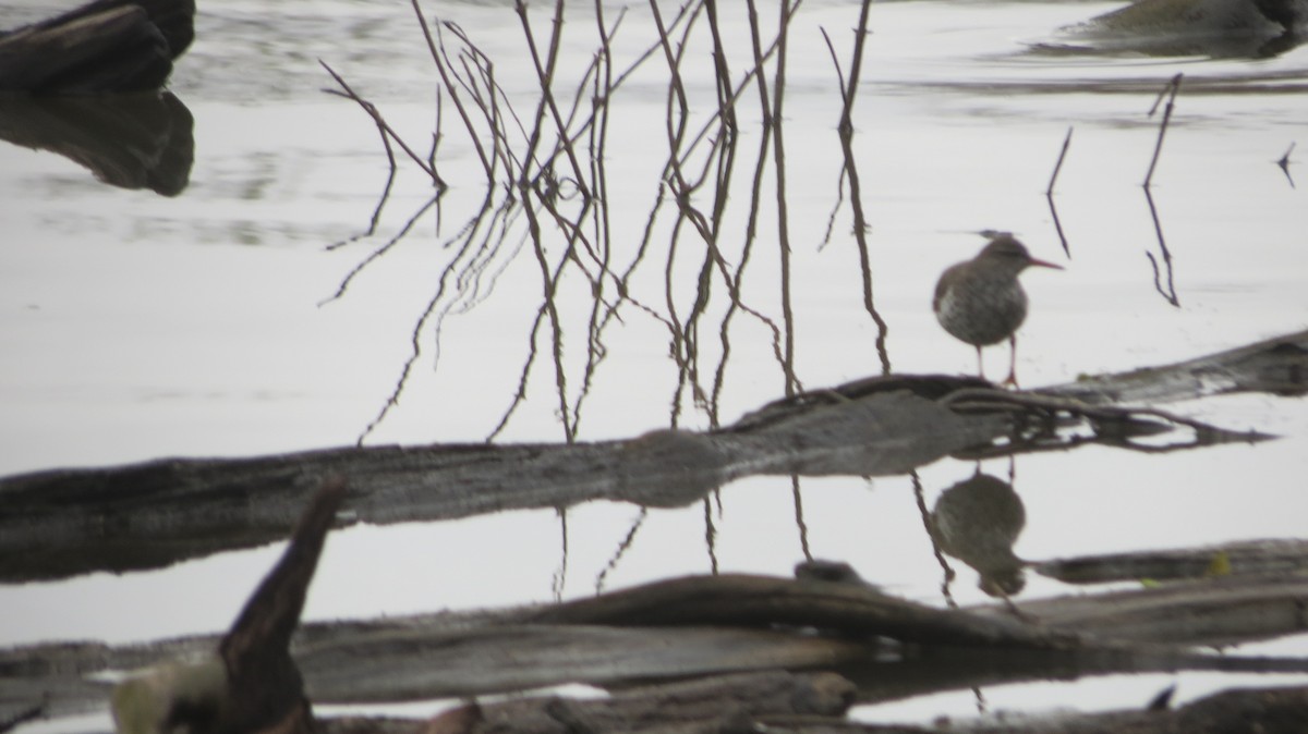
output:
M893 475L947 455L1066 449L1179 431L1177 448L1266 436L1152 407L1226 392L1301 394L1308 332L1190 362L1029 392L968 377L858 380L764 406L719 431L578 444L347 447L254 458L164 458L0 478L0 580L156 568L281 537L320 477L349 517L450 520L590 500L679 507L748 475ZM1091 428L1063 438L1059 427Z

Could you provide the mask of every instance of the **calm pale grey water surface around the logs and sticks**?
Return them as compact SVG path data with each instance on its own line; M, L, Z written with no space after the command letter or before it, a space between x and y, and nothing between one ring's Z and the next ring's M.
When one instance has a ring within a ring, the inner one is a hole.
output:
M1011 230L1037 257L1066 265L1024 278L1033 303L1019 353L1024 385L1165 363L1308 321L1308 172L1299 165L1308 153L1291 153L1288 175L1275 165L1296 141L1308 146L1308 51L1254 60L1029 51L1054 29L1112 7L874 7L855 148L876 307L895 371L974 368L971 347L935 325L930 294L943 268L974 253L982 229ZM621 8L606 5L611 22ZM519 115L530 116L538 86L511 3L425 9L455 21L496 61L500 84ZM742 278L742 300L787 327L794 376L806 388L882 371L848 193L832 219L841 201L840 94L820 29L848 71L857 10L857 3L810 1L791 27L783 119L790 320L774 206L759 221ZM0 0L0 25L46 12L46 3ZM692 248L693 235L683 232L679 255L670 256L666 217L654 227L647 263L629 282L641 307L624 306L621 320L607 328L604 359L587 367L594 295L573 273L555 298L561 357L532 360L534 351L552 351L555 336L548 329L532 336L544 289L525 222L510 221L502 246L479 261L460 263L450 247L485 188L449 99L437 163L451 189L331 299L422 210L430 185L402 162L375 234L331 247L368 229L387 163L371 120L320 91L334 82L318 61L425 152L437 115L436 74L412 12L407 3L232 0L201 3L200 13L198 42L171 81L195 120L194 166L177 196L105 185L67 158L0 144L0 473L344 445L374 423L368 444L477 441L501 423L498 441L562 441L569 432L576 440L624 438L670 424L729 423L786 391L766 321L731 320L731 351L723 357L709 332L725 320L721 283L700 327L700 371L687 384L659 317L691 308L702 261L691 253L702 247ZM542 40L547 13L532 9ZM723 24L727 43L739 50L731 60L738 77L748 65L748 26L743 13ZM615 39L616 65L625 68L649 47L651 27L646 7L628 8ZM704 33L696 38L702 44ZM570 99L596 47L589 10L569 16L564 40L565 81L556 89ZM715 106L709 56L702 47L691 54L700 60L687 68L701 72L687 76L693 133ZM666 65L659 64L647 61L612 99L610 243L623 269L637 261L667 157ZM1185 81L1151 212L1141 182L1158 118L1146 114L1176 73ZM743 98L740 150L748 150L748 163L732 184L719 242L732 261L743 253L760 142L756 107L756 98ZM1053 199L1065 252L1044 191L1069 128L1073 142ZM765 182L763 199L774 201L770 167ZM1172 266L1156 287L1151 257L1163 263L1160 234ZM458 276L446 274L451 263ZM432 315L420 323L429 306ZM383 414L409 359L398 404ZM990 350L989 374L1002 374L1006 359ZM526 397L510 411L521 381ZM1173 407L1284 438L1168 455L1090 448L1027 456L1014 466L988 462L986 473L1012 473L1025 508L1016 554L1048 559L1303 537L1304 405L1231 397ZM973 471L952 460L921 470L927 505ZM569 509L566 522L555 512L513 512L352 528L331 537L306 616L576 598L598 586L714 569L789 575L806 555L846 560L892 592L943 603L942 571L908 478L802 479L798 487L802 522L786 478L725 487L710 509L712 546L701 505L642 513L594 504ZM218 631L279 552L280 546L164 571L0 588L0 644ZM955 598L990 601L976 588L976 573L955 566ZM1031 576L1019 601L1065 590ZM162 610L150 603L158 598L186 603ZM1301 639L1265 646L1281 654L1305 648ZM984 696L995 709L1096 709L1139 705L1175 679L1182 700L1233 680L1270 680L1120 677L997 687ZM976 707L969 692L880 707L865 717L922 720Z

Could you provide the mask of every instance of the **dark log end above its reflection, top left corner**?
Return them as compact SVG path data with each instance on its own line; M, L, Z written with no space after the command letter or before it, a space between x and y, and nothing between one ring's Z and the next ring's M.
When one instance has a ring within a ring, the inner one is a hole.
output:
M0 34L0 91L158 90L195 38L195 0L95 0Z

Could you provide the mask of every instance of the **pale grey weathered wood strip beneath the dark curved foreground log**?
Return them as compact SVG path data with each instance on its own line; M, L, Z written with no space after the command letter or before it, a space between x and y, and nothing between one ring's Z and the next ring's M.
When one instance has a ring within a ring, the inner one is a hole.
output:
M296 660L315 701L387 703L569 682L621 687L727 673L812 670L869 660L887 646L875 640L727 626L510 624L358 635L305 645Z

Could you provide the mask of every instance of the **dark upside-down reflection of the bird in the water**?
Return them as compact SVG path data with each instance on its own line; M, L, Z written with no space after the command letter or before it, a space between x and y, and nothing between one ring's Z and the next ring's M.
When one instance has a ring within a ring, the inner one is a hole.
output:
M944 490L931 509L931 537L944 554L981 575L991 597L1007 597L1027 585L1025 566L1012 545L1027 524L1027 511L1012 485L977 471Z

